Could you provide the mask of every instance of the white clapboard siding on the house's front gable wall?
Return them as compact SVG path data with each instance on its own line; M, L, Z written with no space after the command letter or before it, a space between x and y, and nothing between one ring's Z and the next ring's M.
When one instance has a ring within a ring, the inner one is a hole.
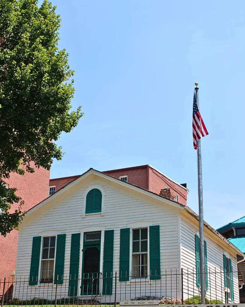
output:
M105 215L100 214L83 215L83 206L85 199L83 193L90 187L91 189L95 185L101 185L105 191L104 196L104 212ZM164 204L162 207L156 205L154 200L152 202L139 199L136 196L126 194L125 190L115 188L113 185L105 185L104 181L97 179L91 184L87 184L84 187L80 187L74 195L71 195L63 201L55 204L53 207L47 209L45 213L36 217L33 221L29 222L25 227L20 225L19 230L19 242L18 242L18 255L17 255L17 267L16 278L24 278L29 275L30 259L32 251L32 237L40 235L42 231L60 231L60 233L66 234L66 246L65 246L65 262L64 262L64 277L69 277L70 270L70 245L72 233L80 232L82 227L89 227L91 225L104 226L105 230L114 230L114 252L113 252L113 271L119 272L119 243L120 243L120 229L126 228L127 224L133 222L147 221L152 225L160 225L160 263L161 271L166 270L170 273L170 270L179 272L179 236L178 236L178 219L179 212L176 208ZM103 248L101 249L103 253ZM81 261L81 255L80 255ZM81 272L80 272L81 274ZM169 279L169 278L168 278ZM170 280L170 279L169 279ZM161 283L164 283L164 278L160 281L157 280L154 283L154 289L160 295ZM147 282L147 287L151 287L151 284ZM174 287L176 281L172 281L172 287L177 289L179 297L179 278L177 284ZM134 283L135 284L135 283ZM169 283L168 283L169 284ZM47 285L38 286L38 289L42 289L44 293L47 293ZM120 287L120 285L119 285ZM124 286L125 287L125 283ZM126 288L129 290L130 285L126 284ZM140 287L136 283L136 288ZM171 286L168 285L170 291ZM58 285L58 293L61 289L61 285ZM18 290L15 289L16 293ZM79 289L80 290L80 289ZM78 291L79 291L78 290ZM113 282L113 293L114 293ZM20 293L30 295L31 287L27 289L21 289ZM32 290L33 291L33 290ZM67 295L63 293L64 284L62 286L62 293L59 295ZM66 287L68 292L68 285ZM128 291L129 293L130 291ZM176 296L176 295L175 295Z

